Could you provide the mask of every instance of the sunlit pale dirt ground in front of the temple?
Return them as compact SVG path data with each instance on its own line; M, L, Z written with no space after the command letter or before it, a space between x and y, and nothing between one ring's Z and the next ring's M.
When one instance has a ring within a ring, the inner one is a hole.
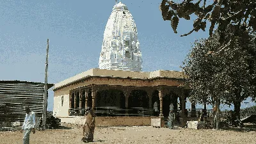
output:
M66 125L67 126L67 125ZM0 132L0 143L22 143L24 133ZM36 131L30 143L83 143L81 127ZM168 129L155 127L96 127L92 143L256 143L255 131Z

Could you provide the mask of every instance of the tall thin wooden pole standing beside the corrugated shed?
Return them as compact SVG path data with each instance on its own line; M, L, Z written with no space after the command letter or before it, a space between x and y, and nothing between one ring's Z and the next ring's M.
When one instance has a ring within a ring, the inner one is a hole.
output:
M47 39L46 63L45 63L44 105L43 105L43 129L45 129L46 113L47 113L48 52L49 52L49 39Z

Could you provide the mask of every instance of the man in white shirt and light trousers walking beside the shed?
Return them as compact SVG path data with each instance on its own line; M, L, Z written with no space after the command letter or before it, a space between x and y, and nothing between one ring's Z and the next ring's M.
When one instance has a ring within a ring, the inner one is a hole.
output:
M36 125L36 118L35 118L35 113L29 109L29 106L25 106L25 111L26 111L26 116L24 123L22 125L22 131L24 132L24 137L23 137L23 144L29 144L29 134L31 131L33 134L35 134L35 125Z

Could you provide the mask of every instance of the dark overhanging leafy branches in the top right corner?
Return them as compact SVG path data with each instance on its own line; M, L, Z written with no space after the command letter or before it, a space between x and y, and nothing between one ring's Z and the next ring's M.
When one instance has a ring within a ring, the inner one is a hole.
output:
M197 17L194 20L193 29L181 36L187 36L200 29L205 31L207 20L211 22L209 28L210 36L214 31L214 26L218 26L221 45L228 46L234 43L237 37L248 40L248 36L253 31L256 31L255 0L212 0L209 3L206 0L195 1L193 3L193 0L185 0L182 3L175 3L162 0L160 5L162 17L164 20L171 20L174 33L177 33L179 19L190 20L190 15L192 14ZM238 31L243 35L240 35ZM226 47L223 47L223 49ZM223 51L223 49L218 49L218 51Z

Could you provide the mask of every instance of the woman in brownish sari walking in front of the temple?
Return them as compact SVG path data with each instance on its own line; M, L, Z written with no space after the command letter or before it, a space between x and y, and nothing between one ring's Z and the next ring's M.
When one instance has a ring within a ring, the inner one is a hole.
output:
M83 138L84 142L92 142L95 129L95 113L93 109L90 109L85 113L85 123L83 126Z

